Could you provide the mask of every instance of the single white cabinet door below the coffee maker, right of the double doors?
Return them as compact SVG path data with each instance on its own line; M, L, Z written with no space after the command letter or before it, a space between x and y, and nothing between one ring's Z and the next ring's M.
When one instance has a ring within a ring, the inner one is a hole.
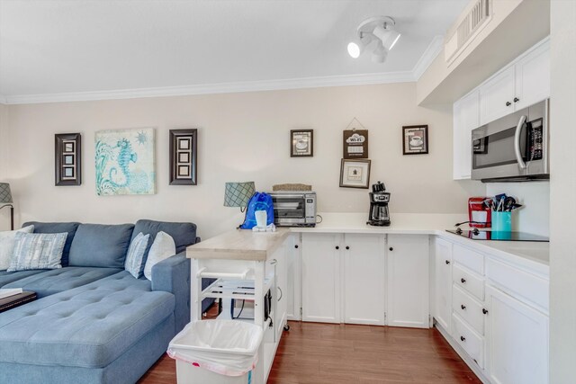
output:
M428 266L426 235L388 235L389 326L428 328Z

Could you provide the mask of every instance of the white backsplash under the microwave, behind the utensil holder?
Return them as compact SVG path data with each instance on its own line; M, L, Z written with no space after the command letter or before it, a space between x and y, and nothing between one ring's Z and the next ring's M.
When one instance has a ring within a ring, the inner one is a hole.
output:
M487 196L499 193L523 205L512 213L512 230L550 236L550 182L486 184Z

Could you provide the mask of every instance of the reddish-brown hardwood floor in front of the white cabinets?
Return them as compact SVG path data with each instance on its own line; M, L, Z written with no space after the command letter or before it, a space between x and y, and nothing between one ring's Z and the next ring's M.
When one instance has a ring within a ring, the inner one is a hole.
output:
M437 329L289 324L268 384L481 383ZM139 380L175 382L166 354Z

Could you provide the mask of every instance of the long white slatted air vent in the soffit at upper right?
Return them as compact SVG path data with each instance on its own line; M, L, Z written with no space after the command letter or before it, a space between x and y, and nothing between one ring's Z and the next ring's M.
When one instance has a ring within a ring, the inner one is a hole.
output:
M446 62L451 64L462 53L474 37L490 21L491 0L477 0L472 10L464 16L454 34L446 41L444 53Z

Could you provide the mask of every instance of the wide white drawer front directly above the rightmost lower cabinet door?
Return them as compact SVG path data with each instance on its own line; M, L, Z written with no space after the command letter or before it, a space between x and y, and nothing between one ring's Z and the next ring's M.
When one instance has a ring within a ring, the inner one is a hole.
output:
M507 263L500 263L491 257L486 259L486 277L498 283L503 290L517 299L527 304L536 304L546 314L548 313L550 281Z

